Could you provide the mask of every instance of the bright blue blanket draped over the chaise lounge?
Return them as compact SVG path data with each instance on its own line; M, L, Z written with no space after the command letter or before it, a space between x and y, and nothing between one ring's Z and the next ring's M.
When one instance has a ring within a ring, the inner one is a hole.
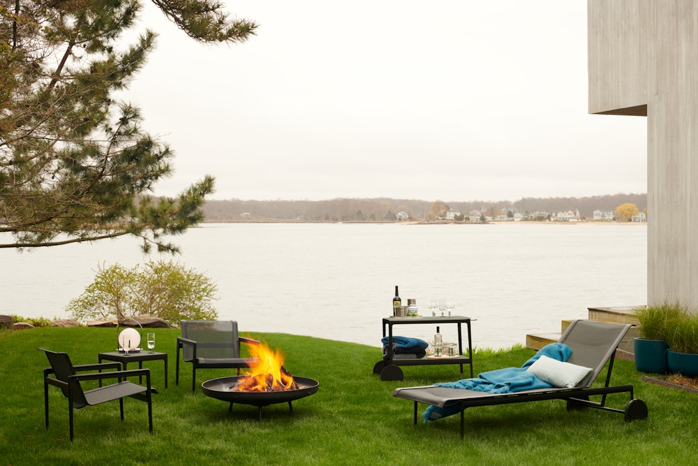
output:
M436 385L449 388L467 388L468 390L485 391L493 394L514 393L523 390L535 390L537 388L552 388L551 384L526 372L526 369L528 369L528 366L535 363L540 356L548 356L549 358L565 362L571 355L572 349L566 344L551 343L542 347L532 358L526 361L526 363L523 363L521 367L507 367L505 369L491 370L478 374L475 379L462 379ZM458 405L443 408L430 406L426 408L426 412L422 414L422 418L424 418L424 422L436 421L438 418L451 416L459 412L461 412L461 409Z

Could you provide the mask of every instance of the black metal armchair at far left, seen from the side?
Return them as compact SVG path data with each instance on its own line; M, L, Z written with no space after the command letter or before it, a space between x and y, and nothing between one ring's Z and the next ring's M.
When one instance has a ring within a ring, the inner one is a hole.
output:
M61 388L68 398L68 412L70 418L70 442L73 442L73 409L86 406L100 405L107 401L119 400L121 421L124 420L124 398L130 397L148 403L148 424L150 432L153 432L153 408L152 393L157 393L150 385L150 370L118 370L119 363L100 363L73 365L66 353L57 353L45 348L39 348L48 357L51 367L44 369L44 408L46 416L46 428L48 429L48 386ZM77 372L117 369L110 372L89 372L77 374ZM126 380L126 377L145 376L146 386L140 386ZM117 383L101 386L84 391L81 382L85 380L118 379Z

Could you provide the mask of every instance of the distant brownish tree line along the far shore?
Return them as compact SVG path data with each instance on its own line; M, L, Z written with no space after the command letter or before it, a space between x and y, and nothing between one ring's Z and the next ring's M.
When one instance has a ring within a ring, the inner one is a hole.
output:
M642 212L646 194L609 194L584 198L521 198L519 201L420 201L392 198L337 198L327 201L206 201L205 221L396 221L398 212L419 221L433 217L434 206L449 208L468 217L478 210L495 217L498 212L566 212L579 210L581 217L593 219L594 210L613 212L618 205L632 203ZM431 215L430 215L431 212Z

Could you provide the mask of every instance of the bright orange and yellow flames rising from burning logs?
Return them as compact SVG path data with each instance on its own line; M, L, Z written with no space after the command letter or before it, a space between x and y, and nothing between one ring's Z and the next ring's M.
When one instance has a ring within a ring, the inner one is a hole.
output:
M267 344L250 344L250 373L241 377L234 391L285 391L296 390L298 384L291 374L283 367L281 351L270 349Z

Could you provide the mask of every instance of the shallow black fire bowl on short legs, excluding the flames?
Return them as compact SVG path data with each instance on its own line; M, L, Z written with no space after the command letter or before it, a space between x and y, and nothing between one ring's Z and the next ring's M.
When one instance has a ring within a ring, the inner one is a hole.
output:
M299 398L304 398L313 393L318 392L318 386L320 382L313 379L307 379L306 377L293 377L293 380L298 384L298 388L295 390L285 390L285 391L235 391L230 387L235 388L240 379L244 379L244 375L238 375L233 377L221 377L220 379L211 379L205 381L201 384L202 392L210 396L211 398L216 398L216 400L223 400L230 402L230 409L232 410L233 403L242 403L243 405L253 405L259 407L259 417L262 418L262 406L274 405L276 403L288 402L288 407L291 407L291 402L293 400L298 400Z

